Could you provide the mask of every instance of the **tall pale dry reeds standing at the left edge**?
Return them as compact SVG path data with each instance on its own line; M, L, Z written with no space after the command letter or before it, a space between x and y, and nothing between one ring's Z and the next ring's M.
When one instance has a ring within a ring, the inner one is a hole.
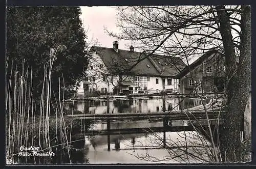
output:
M16 158L20 146L40 147L42 152L52 152L53 148L59 145L61 146L60 149L67 150L70 163L72 162L70 157L71 138L68 139L67 121L62 114L64 87L60 86L60 78L58 79L59 94L57 95L58 98L55 98L57 103L55 105L55 118L50 116L50 107L53 105L51 99L53 93L52 68L56 53L62 46L59 45L55 51L51 49L50 64L45 65L41 96L37 103L33 98L32 68L26 66L24 60L22 70L18 71L13 62L8 69L8 62L10 61L9 58L6 60L6 72L10 70L8 78L6 73L6 80L9 79L6 81L6 160L8 163L20 162L19 158ZM60 96L62 89L63 95ZM33 158L34 163L36 163L38 159ZM23 162L28 162L28 158Z

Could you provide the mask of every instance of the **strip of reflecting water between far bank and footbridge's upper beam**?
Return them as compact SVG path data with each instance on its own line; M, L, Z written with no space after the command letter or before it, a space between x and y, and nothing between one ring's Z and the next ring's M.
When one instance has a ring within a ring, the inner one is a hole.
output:
M110 113L150 113L165 110L183 110L201 104L201 100L194 98L130 98L126 100L110 101ZM79 101L67 102L65 108L68 114L105 114L107 111L106 101Z

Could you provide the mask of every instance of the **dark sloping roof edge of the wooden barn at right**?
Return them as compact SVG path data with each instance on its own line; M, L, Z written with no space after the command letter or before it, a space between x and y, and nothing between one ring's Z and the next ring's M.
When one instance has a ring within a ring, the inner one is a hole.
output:
M186 66L182 71L180 71L175 78L181 78L183 76L185 76L189 70L193 70L194 68L196 68L198 65L202 64L204 62L204 60L209 57L211 54L214 53L221 53L218 50L209 50L207 52L205 52L201 57L199 57L196 61L194 61L193 63L191 63L190 65Z

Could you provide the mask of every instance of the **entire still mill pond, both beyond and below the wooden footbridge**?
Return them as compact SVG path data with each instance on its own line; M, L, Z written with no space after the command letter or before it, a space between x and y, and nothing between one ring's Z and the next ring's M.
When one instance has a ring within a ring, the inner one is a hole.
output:
M201 101L194 98L130 98L126 100L110 101L110 113L151 113L161 112L165 106L166 110L182 110L201 104ZM65 104L67 114L105 114L106 101L79 101L67 102ZM170 126L187 126L186 121L172 121ZM70 154L56 147L53 152L56 154L50 163L188 163L205 162L202 152L209 149L206 139L195 131L152 131L154 128L163 127L163 122L152 122L148 120L140 121L112 121L111 129L120 131L112 135L106 135L106 122L95 121L90 125L89 131L102 131L97 134L76 133L75 140L71 145ZM150 132L132 132L122 133L122 129L147 128ZM96 133L96 132L95 132ZM165 143L163 148L163 135L165 134ZM186 136L186 139L184 138ZM204 142L202 142L204 140ZM110 151L108 145L110 143ZM205 146L206 145L206 146ZM185 148L187 147L187 148ZM202 148L203 147L203 148ZM200 150L202 149L202 150ZM184 153L185 152L185 153ZM190 154L190 155L189 155ZM206 153L207 154L207 153ZM205 155L205 160L209 156ZM42 158L43 159L43 158ZM70 160L71 159L71 160ZM30 161L19 160L19 163L33 163ZM45 163L45 160L39 160L39 163ZM38 163L38 161L36 162Z

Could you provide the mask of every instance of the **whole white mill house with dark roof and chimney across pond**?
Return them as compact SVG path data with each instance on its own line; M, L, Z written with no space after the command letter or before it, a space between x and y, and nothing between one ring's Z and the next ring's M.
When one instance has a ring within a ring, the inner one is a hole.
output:
M174 76L185 63L178 57L151 55L130 50L93 46L88 65L88 77L80 82L78 93L98 91L101 94L179 92L179 80Z

